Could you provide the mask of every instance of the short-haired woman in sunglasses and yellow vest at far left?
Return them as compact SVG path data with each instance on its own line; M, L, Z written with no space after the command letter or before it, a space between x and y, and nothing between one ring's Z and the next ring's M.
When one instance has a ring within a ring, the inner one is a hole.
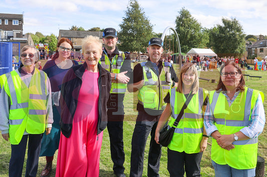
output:
M52 128L51 87L47 74L35 68L38 49L22 48L22 67L0 76L0 131L11 143L9 176L21 177L28 143L25 177L36 177L43 133ZM53 129L52 129L53 130Z

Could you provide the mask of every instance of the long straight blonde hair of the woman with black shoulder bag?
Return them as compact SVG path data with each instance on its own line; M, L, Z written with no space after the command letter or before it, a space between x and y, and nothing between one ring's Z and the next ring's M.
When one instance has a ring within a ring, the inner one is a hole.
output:
M192 84L192 94L196 94L198 91L199 87L199 81L198 81L198 74L196 67L193 63L184 63L183 67L181 68L181 71L179 73L179 81L178 81L178 86L177 86L177 91L180 93L183 93L183 81L182 81L182 74L186 73L186 71L192 71L192 73L195 75L195 80Z

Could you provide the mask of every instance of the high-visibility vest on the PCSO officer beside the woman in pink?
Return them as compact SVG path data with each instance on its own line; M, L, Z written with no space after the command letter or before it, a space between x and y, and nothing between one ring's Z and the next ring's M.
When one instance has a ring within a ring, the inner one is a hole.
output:
M120 52L119 55L115 55L110 61L109 57L106 54L103 54L101 59L99 60L99 63L104 69L106 69L110 73L118 74L120 73L124 58L125 54ZM127 84L112 82L110 93L125 93L126 88Z

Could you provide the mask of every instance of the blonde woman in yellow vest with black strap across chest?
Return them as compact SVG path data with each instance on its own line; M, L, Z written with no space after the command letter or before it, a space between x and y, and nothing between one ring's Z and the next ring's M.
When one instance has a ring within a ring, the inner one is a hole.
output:
M164 101L163 111L155 132L155 141L159 141L159 132L168 121L173 126L181 108L190 94L193 94L182 119L175 128L168 145L168 171L170 177L200 177L202 152L207 147L208 136L203 129L203 114L207 104L207 91L198 87L198 74L194 63L185 63L181 68L178 87L172 88Z

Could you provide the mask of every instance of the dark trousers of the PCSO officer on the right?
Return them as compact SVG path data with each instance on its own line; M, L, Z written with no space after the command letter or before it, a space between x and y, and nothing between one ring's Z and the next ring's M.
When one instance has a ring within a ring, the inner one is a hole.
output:
M158 120L160 115L149 116L145 112L138 112L137 121L132 137L130 177L142 177L144 152L149 134L151 135L151 140L148 153L147 176L159 177L158 171L162 146L157 144L154 140L158 121L149 121L146 119L146 117L155 117L155 120Z

